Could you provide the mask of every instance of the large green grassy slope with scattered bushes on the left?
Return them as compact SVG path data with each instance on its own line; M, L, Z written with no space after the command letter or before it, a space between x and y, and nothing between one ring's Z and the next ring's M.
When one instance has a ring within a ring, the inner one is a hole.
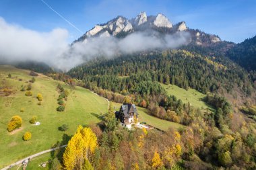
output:
M10 78L8 74L11 74ZM39 75L32 83L31 97L20 91L22 85L28 85L32 77L29 71L15 69L10 66L0 66L0 88L11 88L13 93L9 96L1 94L0 97L0 168L18 161L28 155L51 148L64 136L74 134L79 124L87 125L91 122L99 122L98 115L107 110L107 101L91 93L88 89L75 87L71 89L59 81ZM61 83L69 90L66 108L64 112L57 112L57 84ZM37 93L42 93L42 105L38 105ZM20 112L24 108L24 112ZM22 117L22 128L14 132L7 132L7 123L12 116ZM32 116L37 116L40 126L30 124ZM67 124L69 130L65 133L58 130L62 124ZM26 131L32 132L32 139L22 140ZM64 135L67 134L67 135Z

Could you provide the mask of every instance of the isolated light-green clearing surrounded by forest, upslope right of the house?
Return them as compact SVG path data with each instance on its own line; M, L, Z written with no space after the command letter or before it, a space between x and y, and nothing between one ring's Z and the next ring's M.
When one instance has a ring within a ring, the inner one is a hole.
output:
M202 110L211 110L214 111L211 105L208 105L203 101L203 98L206 96L203 93L195 89L183 89L177 85L164 85L161 84L164 89L166 89L168 95L174 95L178 99L181 99L183 103L191 103L195 108L201 108Z

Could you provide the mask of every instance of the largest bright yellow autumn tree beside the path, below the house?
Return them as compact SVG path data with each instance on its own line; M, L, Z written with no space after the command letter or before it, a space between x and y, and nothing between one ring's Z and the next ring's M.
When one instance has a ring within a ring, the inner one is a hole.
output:
M97 137L94 132L90 128L78 126L77 132L65 148L63 155L65 169L82 169L86 161L89 161L94 154L97 146Z

